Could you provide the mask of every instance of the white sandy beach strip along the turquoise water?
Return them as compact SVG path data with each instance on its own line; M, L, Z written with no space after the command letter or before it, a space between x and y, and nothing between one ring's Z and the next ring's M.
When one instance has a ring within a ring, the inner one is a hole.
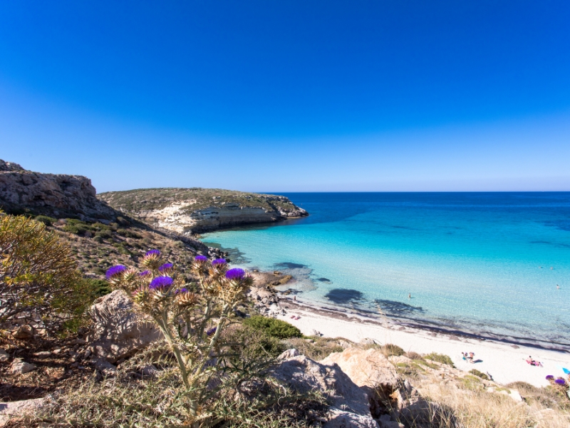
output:
M291 315L299 315L301 318L293 320ZM295 307L279 318L298 327L304 335L311 335L313 330L317 330L326 337L344 337L353 342L359 342L368 337L380 344L393 343L402 347L406 352L413 351L420 354L437 352L449 355L458 369L465 370L465 372L472 369L489 372L493 379L501 384L523 381L537 387L546 386L548 384L545 379L547 374L564 376L561 367L570 368L570 353L567 352L524 346L514 348L512 345L491 340L450 337L450 335L436 334L428 330L414 330L410 327L398 330L401 328L398 325L389 328L361 322L357 320L356 315L351 321L317 314L309 308L305 310L303 307ZM470 364L462 360L461 352L475 352L475 361L481 360L481 362ZM532 355L534 360L540 361L544 367L527 364L524 359L529 355Z

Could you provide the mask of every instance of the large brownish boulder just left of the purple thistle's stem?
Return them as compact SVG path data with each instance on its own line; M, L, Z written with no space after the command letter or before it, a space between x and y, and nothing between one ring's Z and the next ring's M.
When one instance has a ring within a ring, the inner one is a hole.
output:
M93 329L87 337L95 357L110 363L130 357L162 338L152 320L135 312L133 301L122 290L99 297L90 309Z

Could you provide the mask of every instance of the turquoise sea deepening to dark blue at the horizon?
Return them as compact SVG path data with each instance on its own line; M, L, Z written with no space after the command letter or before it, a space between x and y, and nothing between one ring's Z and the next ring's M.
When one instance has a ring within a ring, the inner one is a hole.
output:
M310 216L204 241L304 300L570 350L570 193L284 195Z

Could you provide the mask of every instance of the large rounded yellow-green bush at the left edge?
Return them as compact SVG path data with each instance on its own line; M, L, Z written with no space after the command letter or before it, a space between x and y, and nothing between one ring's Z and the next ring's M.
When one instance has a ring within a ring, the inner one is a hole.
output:
M22 215L0 218L0 321L41 317L49 332L81 325L93 290L71 250L46 225Z

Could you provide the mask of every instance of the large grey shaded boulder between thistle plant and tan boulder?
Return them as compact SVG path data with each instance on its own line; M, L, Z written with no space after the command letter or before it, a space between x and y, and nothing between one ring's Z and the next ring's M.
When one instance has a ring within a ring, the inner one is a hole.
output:
M343 412L371 415L366 392L338 365L323 365L300 355L281 362L272 374L298 392L322 392L332 407Z

